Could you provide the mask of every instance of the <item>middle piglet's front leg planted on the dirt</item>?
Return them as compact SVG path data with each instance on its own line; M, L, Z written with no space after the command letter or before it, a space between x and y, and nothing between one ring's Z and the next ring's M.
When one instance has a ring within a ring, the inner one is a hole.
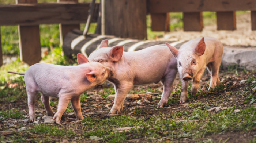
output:
M114 105L112 106L109 115L117 115L123 111L123 104L127 93L132 88L132 82L123 82L122 84L115 85L116 96Z

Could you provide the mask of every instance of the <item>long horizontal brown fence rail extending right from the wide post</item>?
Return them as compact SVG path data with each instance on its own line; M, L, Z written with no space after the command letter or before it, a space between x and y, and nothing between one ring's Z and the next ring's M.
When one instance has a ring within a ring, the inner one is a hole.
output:
M150 13L256 10L255 0L148 0Z

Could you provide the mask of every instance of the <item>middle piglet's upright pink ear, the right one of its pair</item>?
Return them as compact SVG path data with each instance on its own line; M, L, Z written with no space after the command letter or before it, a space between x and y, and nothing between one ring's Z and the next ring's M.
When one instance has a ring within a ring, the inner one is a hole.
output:
M107 53L108 57L109 57L112 61L118 62L118 61L122 58L122 55L123 55L123 47L124 47L124 45L112 47L112 48L110 49L110 51Z

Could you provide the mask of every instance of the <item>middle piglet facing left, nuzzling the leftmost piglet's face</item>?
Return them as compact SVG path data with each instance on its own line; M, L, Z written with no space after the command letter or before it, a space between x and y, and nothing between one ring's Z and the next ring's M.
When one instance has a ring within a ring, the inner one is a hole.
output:
M166 45L155 45L139 51L123 52L123 46L108 48L103 40L99 49L88 57L113 69L108 80L115 86L116 96L109 115L121 113L125 97L133 85L163 83L163 93L158 107L163 107L173 90L177 74L177 60Z

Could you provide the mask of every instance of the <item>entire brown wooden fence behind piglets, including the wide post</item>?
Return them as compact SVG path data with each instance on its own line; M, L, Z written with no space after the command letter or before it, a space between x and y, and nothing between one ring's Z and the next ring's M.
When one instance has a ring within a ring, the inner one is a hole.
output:
M19 25L20 58L29 65L41 60L39 24L61 23L62 42L69 31L86 22L90 5L78 0L40 4L37 0L17 1L15 5L0 5L0 25ZM218 30L235 30L235 11L250 10L252 30L256 30L255 0L104 0L104 3L105 34L117 37L147 39L147 14L151 15L153 31L169 31L169 12L183 12L185 31L201 31L203 11L216 12ZM0 66L2 62L0 43Z

